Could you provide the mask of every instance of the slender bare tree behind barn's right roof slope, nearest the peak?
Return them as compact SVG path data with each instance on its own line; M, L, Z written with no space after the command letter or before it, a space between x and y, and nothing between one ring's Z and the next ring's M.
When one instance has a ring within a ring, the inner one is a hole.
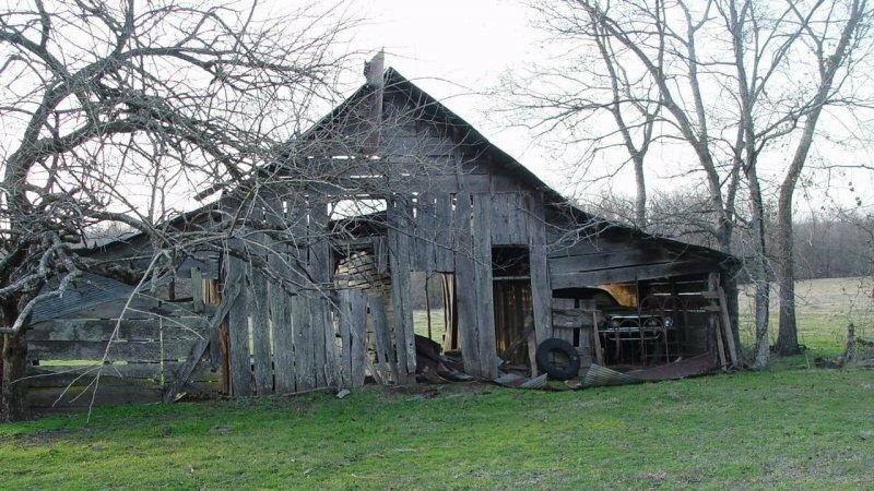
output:
M562 145L583 147L583 161L624 155L612 170L618 172L631 165L635 202L630 221L646 229L645 160L657 136L653 130L661 122L658 88L646 71L623 63L627 48L591 22L591 14L564 3L541 2L534 9L540 13L539 26L550 33L552 41L565 46L582 36L592 40L593 49L579 52L575 47L570 53L577 56L563 53L551 60L557 67L538 65L506 76L499 94L507 99L507 110L513 113L515 121L536 131L538 136L558 131L564 136ZM661 46L659 52L663 49ZM663 62L661 56L657 58L657 63ZM592 120L595 124L610 124L610 129L592 131L588 124ZM577 179L591 179L586 167L580 166Z

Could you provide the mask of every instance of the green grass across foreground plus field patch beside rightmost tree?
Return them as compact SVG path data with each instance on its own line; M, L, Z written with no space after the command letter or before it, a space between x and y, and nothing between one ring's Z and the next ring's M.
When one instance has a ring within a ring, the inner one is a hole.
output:
M837 284L812 284L811 300ZM822 315L825 297L804 307L812 350L839 350L842 298ZM874 489L874 371L789 361L579 392L420 385L95 409L0 426L0 487Z

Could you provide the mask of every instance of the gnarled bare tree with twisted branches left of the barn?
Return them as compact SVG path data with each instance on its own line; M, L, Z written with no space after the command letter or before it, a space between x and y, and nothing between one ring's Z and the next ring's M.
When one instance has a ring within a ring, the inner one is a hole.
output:
M175 253L226 244L228 230L162 224L193 190L262 179L256 168L277 148L290 161L280 144L332 96L342 9L265 19L256 4L34 0L0 11L0 420L25 416L25 385L13 382L32 309L98 267L78 252L90 229L144 232L166 263L153 262L154 276Z

